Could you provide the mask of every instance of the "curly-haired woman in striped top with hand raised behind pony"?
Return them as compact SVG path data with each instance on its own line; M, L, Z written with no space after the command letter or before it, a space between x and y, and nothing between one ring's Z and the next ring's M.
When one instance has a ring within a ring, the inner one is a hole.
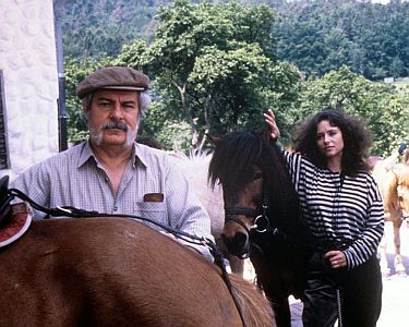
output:
M264 116L277 138L273 111ZM296 130L294 152L285 152L304 218L325 249L309 263L304 327L333 327L337 318L341 326L375 326L380 316L384 211L366 160L370 145L360 120L324 109Z

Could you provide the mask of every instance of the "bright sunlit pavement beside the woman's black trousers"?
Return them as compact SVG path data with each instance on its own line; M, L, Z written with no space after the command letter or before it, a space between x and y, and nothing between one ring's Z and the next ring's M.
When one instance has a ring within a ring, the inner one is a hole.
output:
M409 276L398 277L395 274L393 231L389 223L385 227L387 244L387 261L392 276L383 279L383 308L377 327L404 327L409 326ZM401 254L404 265L409 274L409 227L404 222L400 229ZM292 327L302 327L301 312L302 304L299 301L291 300Z

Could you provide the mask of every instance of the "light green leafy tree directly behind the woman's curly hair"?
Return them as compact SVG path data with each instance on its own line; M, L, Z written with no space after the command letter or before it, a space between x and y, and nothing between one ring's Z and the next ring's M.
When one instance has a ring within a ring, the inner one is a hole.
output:
M372 154L382 156L408 140L407 95L405 88L373 83L342 66L304 84L293 124L325 107L345 110L366 120L374 135Z

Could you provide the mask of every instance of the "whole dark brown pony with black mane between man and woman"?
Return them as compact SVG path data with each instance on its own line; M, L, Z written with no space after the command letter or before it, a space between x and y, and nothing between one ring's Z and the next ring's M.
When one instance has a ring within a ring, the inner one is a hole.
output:
M216 145L209 166L213 184L225 199L224 241L230 253L246 257L272 301L277 326L291 326L288 296L302 299L306 263L314 243L280 149L268 135L233 132Z

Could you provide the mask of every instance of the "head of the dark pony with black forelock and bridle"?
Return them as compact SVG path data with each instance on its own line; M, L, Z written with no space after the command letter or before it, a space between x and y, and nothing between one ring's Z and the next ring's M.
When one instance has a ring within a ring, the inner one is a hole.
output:
M216 145L209 165L209 180L219 182L225 201L222 239L228 251L248 255L251 235L265 231L270 221L268 211L284 211L288 205L288 185L280 150L268 135L233 132L221 138L210 137ZM279 215L279 214L278 214Z

